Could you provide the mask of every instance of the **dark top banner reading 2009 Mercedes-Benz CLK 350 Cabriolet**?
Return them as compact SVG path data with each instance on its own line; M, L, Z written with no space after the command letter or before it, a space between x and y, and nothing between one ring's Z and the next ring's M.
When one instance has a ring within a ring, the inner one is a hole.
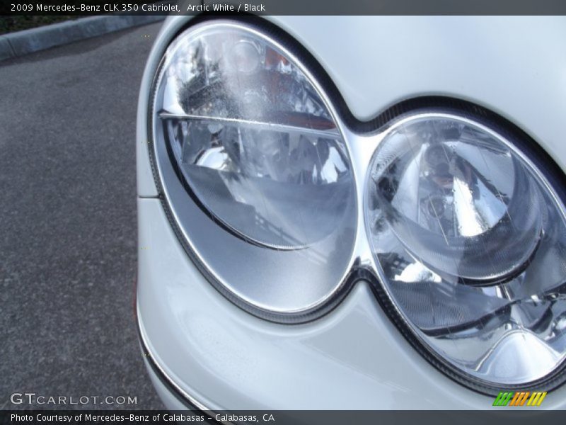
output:
M2 0L2 16L195 15L566 15L564 0Z

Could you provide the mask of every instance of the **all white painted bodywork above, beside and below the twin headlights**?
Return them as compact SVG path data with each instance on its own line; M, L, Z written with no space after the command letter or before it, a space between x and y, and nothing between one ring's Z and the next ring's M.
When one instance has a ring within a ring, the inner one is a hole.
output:
M168 18L141 83L137 128L138 314L155 363L208 409L487 409L493 397L422 358L359 282L300 325L244 312L202 276L161 205L147 149L151 81L188 17ZM566 20L527 17L275 16L369 120L423 95L473 101L526 131L566 170ZM146 199L149 198L149 199ZM168 408L180 404L156 388ZM566 408L566 387L545 408Z

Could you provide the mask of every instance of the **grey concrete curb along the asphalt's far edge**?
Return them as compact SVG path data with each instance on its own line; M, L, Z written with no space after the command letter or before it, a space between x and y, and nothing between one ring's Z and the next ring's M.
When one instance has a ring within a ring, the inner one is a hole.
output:
M133 26L162 21L165 16L89 16L0 35L0 61L96 37Z

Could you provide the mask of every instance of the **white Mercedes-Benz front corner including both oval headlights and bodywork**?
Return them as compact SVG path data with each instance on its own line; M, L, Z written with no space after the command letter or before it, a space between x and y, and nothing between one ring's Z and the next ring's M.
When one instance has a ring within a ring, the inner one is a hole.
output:
M564 18L168 18L137 116L166 406L565 408L565 52Z

